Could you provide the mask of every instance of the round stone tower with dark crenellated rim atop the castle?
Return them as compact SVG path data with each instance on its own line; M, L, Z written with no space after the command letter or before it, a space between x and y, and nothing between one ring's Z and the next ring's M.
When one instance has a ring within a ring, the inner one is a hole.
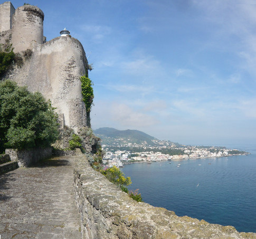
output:
M32 49L43 44L44 13L36 6L18 7L12 17L12 43L14 52Z

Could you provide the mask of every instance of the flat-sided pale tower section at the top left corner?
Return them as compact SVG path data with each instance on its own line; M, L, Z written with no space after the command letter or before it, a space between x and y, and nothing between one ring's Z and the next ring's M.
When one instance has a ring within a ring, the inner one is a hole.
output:
M15 8L11 2L4 2L0 5L0 32L8 31L12 28L12 15Z

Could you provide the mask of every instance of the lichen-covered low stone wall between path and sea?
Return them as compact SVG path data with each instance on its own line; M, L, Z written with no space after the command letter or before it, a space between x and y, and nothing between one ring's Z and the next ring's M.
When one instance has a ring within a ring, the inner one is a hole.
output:
M239 233L232 226L178 217L165 208L136 202L93 170L79 149L74 183L82 238L256 238L255 233Z

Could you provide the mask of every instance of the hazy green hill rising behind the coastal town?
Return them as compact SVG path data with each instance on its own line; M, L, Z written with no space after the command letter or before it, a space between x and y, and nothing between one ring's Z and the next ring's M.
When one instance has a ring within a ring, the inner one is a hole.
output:
M145 144L145 141L148 145L154 145L153 140L157 138L148 135L139 130L118 130L114 128L103 127L93 131L94 134L101 138L102 144L113 144L115 141L123 142L124 144Z

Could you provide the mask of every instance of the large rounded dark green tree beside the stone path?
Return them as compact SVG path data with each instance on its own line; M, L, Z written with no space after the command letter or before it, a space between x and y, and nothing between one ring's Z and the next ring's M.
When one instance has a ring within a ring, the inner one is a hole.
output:
M0 81L0 153L47 147L58 137L58 116L50 101L11 80Z

